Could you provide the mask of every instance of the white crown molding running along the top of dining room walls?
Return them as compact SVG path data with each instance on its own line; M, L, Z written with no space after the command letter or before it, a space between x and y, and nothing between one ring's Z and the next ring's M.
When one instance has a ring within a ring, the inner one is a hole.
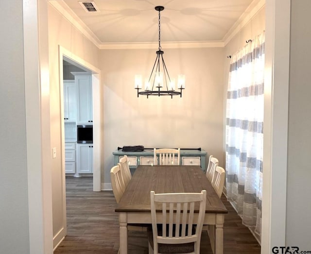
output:
M101 50L123 49L154 49L158 43L102 43L99 38L86 26L86 24L69 8L63 0L48 0L48 2L71 23L78 31L86 36L94 45ZM253 0L241 17L235 22L221 41L183 41L162 42L166 49L174 48L221 48L225 47L230 40L263 8L265 0Z

